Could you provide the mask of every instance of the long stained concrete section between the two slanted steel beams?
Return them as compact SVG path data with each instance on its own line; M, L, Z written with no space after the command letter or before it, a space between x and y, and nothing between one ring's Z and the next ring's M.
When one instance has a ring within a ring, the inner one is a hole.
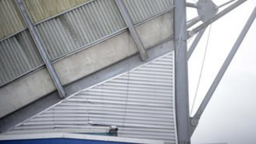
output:
M132 37L124 32L96 46L53 64L62 84L73 82L137 52Z

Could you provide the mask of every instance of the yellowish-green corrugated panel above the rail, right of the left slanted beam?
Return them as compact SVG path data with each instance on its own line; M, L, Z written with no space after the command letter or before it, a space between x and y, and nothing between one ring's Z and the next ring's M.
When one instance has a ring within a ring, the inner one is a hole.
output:
M89 0L23 0L34 23L81 5Z

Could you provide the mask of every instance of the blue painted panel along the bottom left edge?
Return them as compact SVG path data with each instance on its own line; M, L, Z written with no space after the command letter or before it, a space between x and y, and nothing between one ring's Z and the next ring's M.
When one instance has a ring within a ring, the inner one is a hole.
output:
M19 140L3 140L0 144L135 144L126 142L109 142L88 139L67 139L67 138L52 138L52 139L19 139Z

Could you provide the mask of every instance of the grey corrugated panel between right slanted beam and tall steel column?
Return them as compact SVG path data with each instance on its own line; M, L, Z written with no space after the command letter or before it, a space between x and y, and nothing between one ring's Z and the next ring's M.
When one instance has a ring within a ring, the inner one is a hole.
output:
M172 0L124 0L133 23L158 14L173 5Z

